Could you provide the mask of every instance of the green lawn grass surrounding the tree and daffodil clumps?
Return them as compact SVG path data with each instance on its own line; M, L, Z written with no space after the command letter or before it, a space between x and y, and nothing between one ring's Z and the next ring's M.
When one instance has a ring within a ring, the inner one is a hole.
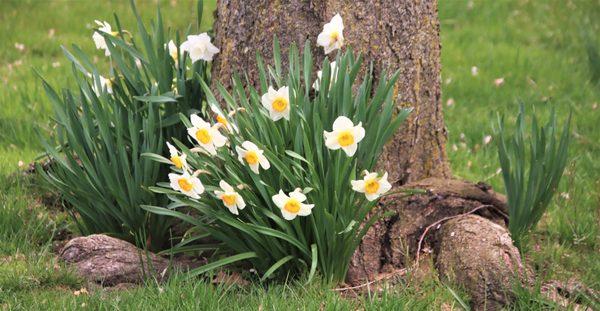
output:
M138 1L146 19L155 4ZM159 1L167 24L193 23L194 1ZM559 193L533 232L525 257L541 281L577 278L600 289L600 10L589 1L441 1L442 83L448 153L459 178L484 180L502 192L491 134L495 113L516 116L518 101L543 113L555 105L562 120L573 110L571 163ZM205 10L214 9L209 2ZM36 68L50 83L69 84L60 44L76 43L104 57L91 41L94 19L134 29L125 2L2 1L0 4L0 309L390 309L459 308L446 284L425 280L361 299L343 298L324 284L268 288L214 286L176 278L138 289L90 289L53 258L53 237L71 228L59 209L43 207L35 182L19 177L19 161L41 152L38 133L51 135L49 104ZM205 27L210 25L206 23ZM24 49L20 50L20 44ZM472 75L471 68L478 74ZM501 86L494 80L504 78ZM447 105L447 103L452 103ZM558 308L539 292L520 290L514 309ZM165 308L166 307L166 308Z

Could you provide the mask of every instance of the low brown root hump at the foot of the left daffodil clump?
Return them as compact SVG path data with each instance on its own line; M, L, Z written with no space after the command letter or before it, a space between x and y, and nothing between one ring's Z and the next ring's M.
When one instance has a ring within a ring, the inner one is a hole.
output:
M166 258L103 234L72 239L60 252L60 258L74 265L86 280L104 286L139 284L147 277L162 281L173 268L185 270L203 263L175 261L170 264Z

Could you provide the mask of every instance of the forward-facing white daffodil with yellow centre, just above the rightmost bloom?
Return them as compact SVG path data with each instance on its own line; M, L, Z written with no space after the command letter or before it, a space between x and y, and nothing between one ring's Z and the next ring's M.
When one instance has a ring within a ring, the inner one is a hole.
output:
M333 122L333 131L323 131L325 146L331 150L342 148L346 155L353 156L358 148L358 143L365 138L365 129L362 122L354 126L352 121L340 116Z

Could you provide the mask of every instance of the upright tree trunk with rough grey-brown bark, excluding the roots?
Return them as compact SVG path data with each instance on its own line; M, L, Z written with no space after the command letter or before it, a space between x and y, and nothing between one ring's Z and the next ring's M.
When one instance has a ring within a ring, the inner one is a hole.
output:
M317 35L331 17L344 20L345 46L382 69L400 70L398 107L410 106L409 120L386 146L381 166L397 185L425 177L448 177L446 130L440 98L440 38L437 1L386 0L220 0L213 80L226 87L232 73L247 72L256 83L256 53L272 59L273 35L286 55L291 43L313 45L315 64L324 58ZM285 62L285 59L284 59Z

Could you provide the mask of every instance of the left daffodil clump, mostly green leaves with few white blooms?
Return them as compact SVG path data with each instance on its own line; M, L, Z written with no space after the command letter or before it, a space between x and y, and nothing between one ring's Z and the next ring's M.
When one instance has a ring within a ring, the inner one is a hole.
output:
M171 222L140 205L168 203L144 189L168 168L141 154L171 150L166 138L187 135L178 115L201 113L205 94L199 81L208 79L207 61L218 49L206 34L187 36L178 49L179 34L163 27L160 11L147 29L133 2L132 8L135 35L118 18L113 26L96 21L88 44L98 48L103 66L73 45L64 53L76 87L59 94L44 81L57 129L55 140L44 142L55 160L44 177L67 201L83 234L107 233L162 249Z

